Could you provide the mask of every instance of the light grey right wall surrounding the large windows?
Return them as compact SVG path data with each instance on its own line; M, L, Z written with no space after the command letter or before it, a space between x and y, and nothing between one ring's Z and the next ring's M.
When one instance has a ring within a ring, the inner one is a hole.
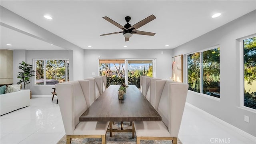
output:
M256 33L256 10L224 26L208 32L173 50L174 55L188 54L220 45L220 101L188 92L187 102L256 136L256 113L240 108L239 44L238 39ZM184 55L184 62L186 56ZM186 78L186 63L184 77ZM244 115L250 122L244 121Z

